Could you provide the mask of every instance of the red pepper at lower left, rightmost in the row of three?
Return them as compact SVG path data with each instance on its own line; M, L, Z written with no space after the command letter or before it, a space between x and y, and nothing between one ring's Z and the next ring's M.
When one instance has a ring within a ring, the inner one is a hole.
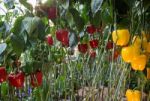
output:
M30 75L31 77L31 85L33 87L38 87L42 85L43 73L41 71L36 71Z

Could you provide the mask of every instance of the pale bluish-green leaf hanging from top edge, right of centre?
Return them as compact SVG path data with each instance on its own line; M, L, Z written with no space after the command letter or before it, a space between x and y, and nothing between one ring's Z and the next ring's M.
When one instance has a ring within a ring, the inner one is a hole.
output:
M91 1L91 10L95 14L101 7L103 0L92 0Z

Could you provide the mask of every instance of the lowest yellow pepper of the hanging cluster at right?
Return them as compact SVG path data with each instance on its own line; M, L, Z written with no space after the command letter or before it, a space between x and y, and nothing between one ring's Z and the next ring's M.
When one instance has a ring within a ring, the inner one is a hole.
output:
M135 56L131 61L132 69L143 71L145 69L146 61L147 58L144 54Z

